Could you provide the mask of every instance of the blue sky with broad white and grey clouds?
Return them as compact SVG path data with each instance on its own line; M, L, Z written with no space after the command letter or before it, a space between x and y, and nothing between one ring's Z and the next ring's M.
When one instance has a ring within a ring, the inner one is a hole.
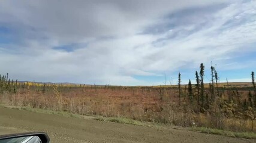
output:
M200 63L256 71L256 1L0 0L0 74L35 82L176 85Z

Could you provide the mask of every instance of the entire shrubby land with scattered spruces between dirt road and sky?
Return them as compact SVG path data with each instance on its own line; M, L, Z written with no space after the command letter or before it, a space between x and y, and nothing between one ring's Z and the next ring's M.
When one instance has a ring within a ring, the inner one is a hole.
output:
M219 83L211 66L211 81L204 80L200 64L195 77L172 86L110 86L37 83L0 75L1 104L68 111L104 117L125 117L175 126L203 126L234 132L256 132L256 85ZM248 73L249 76L249 73ZM192 84L191 80L196 83Z

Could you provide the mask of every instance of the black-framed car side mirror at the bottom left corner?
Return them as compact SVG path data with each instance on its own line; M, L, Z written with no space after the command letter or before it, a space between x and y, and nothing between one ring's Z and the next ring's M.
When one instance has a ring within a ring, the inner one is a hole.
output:
M0 143L49 143L50 138L44 132L16 133L0 135Z

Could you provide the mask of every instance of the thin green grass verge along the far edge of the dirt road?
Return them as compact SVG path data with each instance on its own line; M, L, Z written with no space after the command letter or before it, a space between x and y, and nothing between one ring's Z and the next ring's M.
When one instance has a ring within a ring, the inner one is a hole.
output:
M80 114L69 113L67 111L52 111L52 110L46 110L46 109L41 109L41 108L18 107L18 106L5 105L5 104L0 104L0 107L11 108L11 109L16 109L16 110L32 111L32 112L36 112L36 113L56 114L56 115L66 116L66 117L76 117L76 118L82 118L82 119L94 119L94 120L98 120L98 121L102 121L102 122L124 123L124 124L129 124L129 125L147 126L147 127L153 127L153 128L174 128L174 129L177 129L177 127L174 127L174 126L171 126L171 125L162 125L162 124L158 124L158 123L140 122L138 120L132 120L132 119L127 119L127 118L123 118L123 117L83 116L83 115L80 115ZM228 130L210 129L210 128L205 128L205 127L194 127L194 128L189 128L189 130L194 131L194 132L229 136L229 137L233 137L233 138L256 139L256 133L254 133L254 132L231 132L231 131L228 131Z

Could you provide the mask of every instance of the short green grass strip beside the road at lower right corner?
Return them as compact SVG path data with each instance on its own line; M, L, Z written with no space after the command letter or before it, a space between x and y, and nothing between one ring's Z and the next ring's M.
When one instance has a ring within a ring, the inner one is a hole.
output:
M256 133L254 133L254 132L231 132L229 130L211 129L211 128L205 128L205 127L195 127L190 130L196 131L196 132L201 132L201 133L230 136L233 138L256 139Z

